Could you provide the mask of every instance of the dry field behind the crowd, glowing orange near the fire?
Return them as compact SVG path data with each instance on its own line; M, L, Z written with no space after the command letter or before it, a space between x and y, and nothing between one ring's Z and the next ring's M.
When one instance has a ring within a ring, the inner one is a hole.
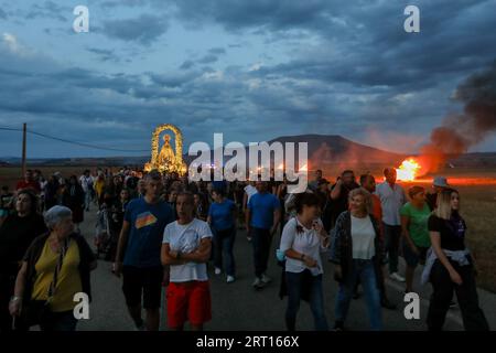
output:
M80 175L85 167L43 167L39 168L45 176L60 171L64 176L71 174ZM94 167L90 168L91 170ZM114 168L115 171L118 168ZM359 172L370 171L376 175L380 174L377 168L356 168ZM324 171L324 175L334 181L336 171ZM496 168L485 169L450 169L439 172L445 175L461 193L462 214L468 226L467 244L473 252L477 269L478 285L487 290L496 292ZM21 176L19 168L0 168L0 185L13 188ZM310 178L313 178L310 175ZM430 188L431 176L423 176L419 182L403 183L406 189L413 184L421 184ZM378 179L378 181L380 181Z

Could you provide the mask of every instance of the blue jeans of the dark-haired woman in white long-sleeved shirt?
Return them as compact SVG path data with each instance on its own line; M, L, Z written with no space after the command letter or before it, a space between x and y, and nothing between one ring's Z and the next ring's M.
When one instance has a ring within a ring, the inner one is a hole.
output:
M305 274L306 272L306 274ZM289 331L295 330L296 314L300 309L301 295L303 290L303 279L309 276L310 309L312 310L315 331L327 331L327 320L325 319L324 296L322 293L322 275L312 276L309 270L300 274L285 272L288 286L288 308L285 310L285 325Z

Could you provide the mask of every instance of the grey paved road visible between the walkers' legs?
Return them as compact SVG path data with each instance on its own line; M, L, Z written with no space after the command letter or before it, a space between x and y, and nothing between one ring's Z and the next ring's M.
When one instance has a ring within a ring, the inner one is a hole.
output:
M82 232L93 244L95 225L94 212L86 213L86 221L82 226ZM272 244L273 252L279 238ZM281 279L281 268L277 265L274 257L269 263L268 275L273 278L262 291L255 291L251 288L254 280L251 244L246 238L246 233L239 231L235 244L235 257L237 261L237 281L226 284L225 277L215 276L213 269L209 269L212 287L212 310L213 320L206 325L207 330L284 330L285 300L280 300L279 284ZM403 264L401 264L403 266ZM111 264L99 260L98 268L93 272L93 297L90 307L90 319L82 321L78 330L83 331L128 331L133 330L133 324L129 318L123 295L121 291L121 280L110 272ZM334 302L337 290L336 282L332 279L332 264L324 264L324 297L325 312L330 325L334 321ZM420 272L420 270L418 270ZM419 275L419 274L417 274ZM419 284L417 276L416 284ZM398 303L396 311L384 310L384 324L386 330L419 331L425 330L425 315L429 302L430 286L420 290L419 285L416 289L421 295L420 320L406 320L403 317L402 284L388 280L388 295L395 303ZM482 307L488 317L490 328L496 328L496 296L479 290ZM492 314L490 314L492 313ZM161 327L165 327L162 319ZM364 300L360 298L352 302L346 327L352 330L368 330L368 317ZM299 330L313 330L313 320L310 308L302 302L298 327ZM446 318L445 330L462 330L460 310L450 310Z

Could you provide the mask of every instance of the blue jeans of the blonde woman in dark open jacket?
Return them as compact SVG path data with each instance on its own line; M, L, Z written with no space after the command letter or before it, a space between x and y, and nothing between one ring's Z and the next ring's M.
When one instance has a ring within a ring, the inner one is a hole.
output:
M382 313L380 308L380 292L377 287L376 272L371 260L353 260L353 268L339 284L339 291L336 297L336 321L345 322L352 301L353 292L359 279L365 292L370 329L382 330Z

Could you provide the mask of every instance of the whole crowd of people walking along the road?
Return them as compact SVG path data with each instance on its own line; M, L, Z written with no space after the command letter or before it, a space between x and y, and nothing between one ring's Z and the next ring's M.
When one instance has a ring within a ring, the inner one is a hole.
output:
M273 175L273 174L272 174ZM300 194L289 181L191 182L177 173L86 170L45 180L26 171L15 191L0 195L0 331L73 331L73 297L90 298L90 272L97 259L112 263L138 330L203 330L212 319L208 266L236 282L234 247L246 228L252 245L255 290L272 279L267 269L278 242L281 298L288 297L285 324L296 329L303 299L315 330L345 327L352 299L363 288L371 330L382 330L382 310L396 310L386 279L414 291L414 271L424 265L422 284L432 284L429 330L442 330L456 293L466 330L488 330L478 304L475 264L465 246L466 223L460 194L445 178L433 190L405 190L393 168L384 182L345 170L331 184L322 171ZM408 195L408 196L407 196ZM94 247L80 233L85 213L95 212ZM274 240L274 238L277 240ZM406 261L399 272L399 256ZM338 291L334 324L325 313L323 261L333 263ZM161 318L166 287L166 318ZM144 309L145 317L142 318Z

